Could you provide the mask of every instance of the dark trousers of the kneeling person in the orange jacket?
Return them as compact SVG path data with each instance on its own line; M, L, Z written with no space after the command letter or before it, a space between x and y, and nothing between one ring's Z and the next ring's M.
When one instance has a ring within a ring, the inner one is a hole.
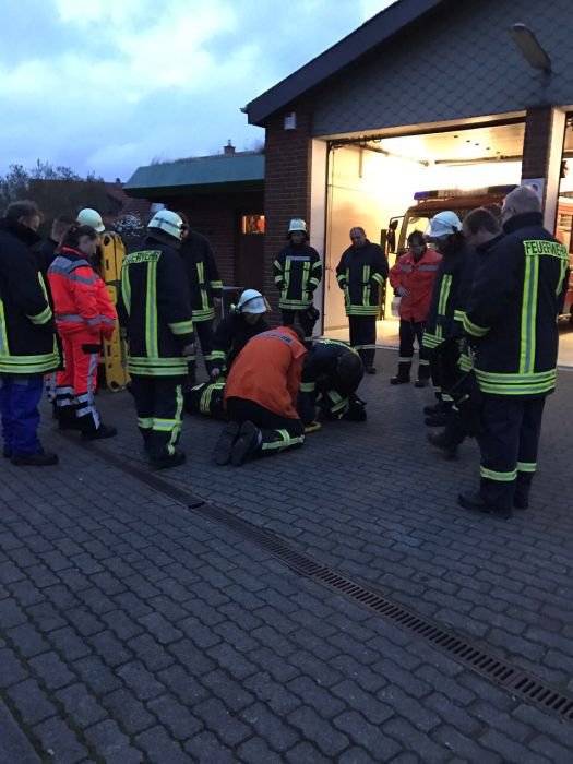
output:
M300 419L279 417L254 401L227 398L227 415L230 421L237 421L240 425L251 421L259 428L261 455L277 454L302 445L305 442L305 426Z

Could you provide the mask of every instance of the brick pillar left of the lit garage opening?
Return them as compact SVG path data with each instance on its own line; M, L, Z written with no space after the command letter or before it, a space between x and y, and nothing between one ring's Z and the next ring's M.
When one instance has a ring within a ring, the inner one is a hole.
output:
M284 117L296 110L297 127L284 129ZM273 262L285 247L285 235L293 217L310 216L311 106L299 100L293 109L285 109L268 120L265 144L266 215L264 250L264 288L273 308L272 320L280 320L278 294L273 282Z

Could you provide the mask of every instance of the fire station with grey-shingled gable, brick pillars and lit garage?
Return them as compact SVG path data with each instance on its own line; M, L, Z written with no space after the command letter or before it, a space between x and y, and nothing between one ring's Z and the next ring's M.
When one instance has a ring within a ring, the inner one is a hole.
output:
M571 0L398 0L250 102L249 122L266 131L272 302L291 217L308 220L324 259L325 332L346 325L335 268L349 229L385 243L392 264L405 234L426 228L431 199L486 199L526 180L571 251L572 39Z

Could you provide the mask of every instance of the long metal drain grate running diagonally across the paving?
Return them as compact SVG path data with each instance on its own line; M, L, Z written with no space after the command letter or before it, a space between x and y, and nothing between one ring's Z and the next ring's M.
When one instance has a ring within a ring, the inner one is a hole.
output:
M320 564L305 553L293 549L274 534L232 515L227 510L210 504L200 497L172 486L154 474L126 464L114 454L97 447L94 450L97 451L103 461L114 467L128 473L155 491L184 504L203 517L226 526L251 544L266 549L297 573L320 582L331 590L345 595L358 605L369 608L402 629L416 634L450 658L509 690L515 697L533 703L541 711L553 714L561 719L573 721L572 695L513 666L508 660L499 658L477 642L457 636L455 632L438 625L389 597L347 578L332 568Z

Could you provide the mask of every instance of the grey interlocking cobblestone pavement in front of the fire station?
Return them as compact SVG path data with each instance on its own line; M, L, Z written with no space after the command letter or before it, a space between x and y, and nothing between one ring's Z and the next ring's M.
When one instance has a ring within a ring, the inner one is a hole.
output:
M211 464L220 423L188 418L188 465L160 478L573 692L573 374L533 505L501 522L456 509L475 444L431 451L431 396L390 387L393 363L379 351L365 425L236 469ZM46 420L61 465L2 464L2 764L571 762L573 724L110 466L141 443L128 394L99 406L119 438L83 447Z

